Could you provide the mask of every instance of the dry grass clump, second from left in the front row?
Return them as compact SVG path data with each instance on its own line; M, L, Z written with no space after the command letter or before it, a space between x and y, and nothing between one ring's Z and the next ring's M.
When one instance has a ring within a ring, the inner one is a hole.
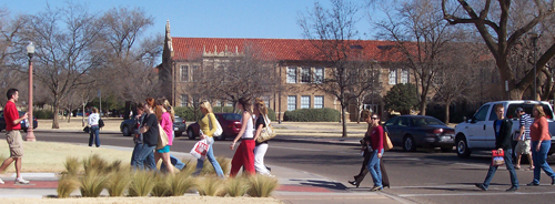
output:
M83 197L98 197L102 190L104 190L108 182L108 176L98 172L98 170L90 169L89 172L81 177L81 195Z

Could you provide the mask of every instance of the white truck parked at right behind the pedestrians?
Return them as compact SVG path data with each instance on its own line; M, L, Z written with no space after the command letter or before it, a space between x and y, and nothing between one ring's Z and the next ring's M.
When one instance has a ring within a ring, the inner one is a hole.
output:
M503 104L505 108L505 118L513 120L513 137L519 134L519 122L516 116L516 108L523 108L524 111L533 118L532 109L536 104L542 104L544 108L549 132L552 133L552 149L549 155L555 151L555 121L553 109L549 103L544 101L495 101L482 105L472 119L455 126L455 146L458 157L468 157L473 150L494 150L495 149L495 132L493 122L497 120L495 114L495 105Z

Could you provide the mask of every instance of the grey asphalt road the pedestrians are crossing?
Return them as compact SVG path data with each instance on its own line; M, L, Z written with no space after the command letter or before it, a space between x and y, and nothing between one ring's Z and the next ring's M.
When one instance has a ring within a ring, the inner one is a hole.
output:
M85 133L36 132L39 141L88 143ZM279 165L301 170L329 177L336 183L322 183L320 186L333 191L367 192L372 187L369 175L359 188L347 181L357 174L362 157L355 145L323 144L313 141L270 141L265 162L270 167ZM171 151L189 152L195 141L178 137ZM102 145L133 146L131 137L122 134L101 134ZM214 154L232 157L230 141L216 141ZM549 157L555 169L555 156ZM403 152L394 149L385 153L384 159L392 187L382 193L415 203L553 203L555 186L551 178L542 173L539 186L526 186L533 178L532 171L517 171L521 188L506 193L511 186L508 172L500 167L490 190L480 191L474 183L484 181L491 159L485 153L473 153L471 159L458 159L454 152L420 150ZM527 164L523 164L523 167Z

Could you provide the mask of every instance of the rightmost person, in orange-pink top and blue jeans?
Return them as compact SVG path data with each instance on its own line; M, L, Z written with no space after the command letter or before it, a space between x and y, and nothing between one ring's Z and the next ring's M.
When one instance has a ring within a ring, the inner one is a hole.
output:
M549 126L545 118L544 108L534 105L534 123L529 125L529 137L532 137L532 160L534 161L534 180L526 185L539 185L539 169L544 170L547 176L552 177L552 185L555 185L555 173L547 164L547 152L552 146Z

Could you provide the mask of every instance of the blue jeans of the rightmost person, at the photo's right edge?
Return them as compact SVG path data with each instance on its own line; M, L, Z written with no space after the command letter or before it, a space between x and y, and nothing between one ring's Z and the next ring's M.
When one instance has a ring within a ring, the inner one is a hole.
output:
M532 141L532 160L534 161L534 181L532 183L534 184L539 184L539 175L542 174L539 169L544 170L545 174L552 177L552 180L555 180L555 173L549 167L547 161L545 161L547 160L547 152L552 146L552 141L542 141L539 152L536 151L537 143L538 141Z

